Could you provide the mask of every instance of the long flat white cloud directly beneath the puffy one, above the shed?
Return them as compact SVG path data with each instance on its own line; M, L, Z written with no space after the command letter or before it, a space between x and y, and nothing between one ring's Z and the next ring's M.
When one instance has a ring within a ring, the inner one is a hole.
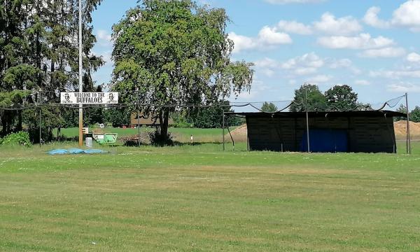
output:
M394 45L391 38L378 36L372 38L370 34L360 34L358 36L328 36L318 38L318 44L325 48L332 49L377 49Z

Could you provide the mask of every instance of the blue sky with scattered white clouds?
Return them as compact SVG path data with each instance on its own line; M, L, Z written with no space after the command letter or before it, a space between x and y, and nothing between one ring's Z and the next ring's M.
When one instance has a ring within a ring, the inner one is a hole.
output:
M379 104L409 93L420 105L420 0L200 0L225 8L235 41L232 59L254 62L251 92L237 101L293 99L303 83L322 91L346 84L361 102ZM93 15L106 66L94 74L111 79L111 27L132 0L104 0ZM233 100L233 99L232 99Z

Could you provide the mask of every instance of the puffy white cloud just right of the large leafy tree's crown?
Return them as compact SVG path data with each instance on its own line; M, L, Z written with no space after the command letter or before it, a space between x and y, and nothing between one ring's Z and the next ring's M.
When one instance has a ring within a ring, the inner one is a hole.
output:
M234 52L252 49L271 49L276 45L293 43L292 38L286 33L276 31L276 28L262 27L257 37L248 37L230 32L229 38L235 43Z

